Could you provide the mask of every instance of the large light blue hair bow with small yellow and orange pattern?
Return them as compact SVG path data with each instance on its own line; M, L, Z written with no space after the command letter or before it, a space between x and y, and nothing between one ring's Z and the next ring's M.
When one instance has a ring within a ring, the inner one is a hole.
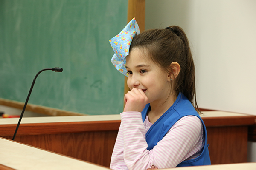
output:
M111 62L125 76L127 76L125 57L129 55L131 41L136 34L140 34L140 28L135 18L133 18L118 35L109 40L115 52Z

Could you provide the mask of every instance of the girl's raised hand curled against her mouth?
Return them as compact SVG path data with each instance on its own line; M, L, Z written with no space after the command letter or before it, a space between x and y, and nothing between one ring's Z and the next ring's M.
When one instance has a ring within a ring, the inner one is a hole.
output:
M148 97L145 95L143 90L133 88L125 94L125 108L124 112L127 111L138 111L142 112L145 105L148 103Z

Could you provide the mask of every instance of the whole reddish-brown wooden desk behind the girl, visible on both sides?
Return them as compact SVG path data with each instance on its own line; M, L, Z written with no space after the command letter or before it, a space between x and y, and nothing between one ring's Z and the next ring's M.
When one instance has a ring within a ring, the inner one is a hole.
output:
M247 130L254 116L205 111L212 164L247 162ZM0 119L0 136L12 139L17 118ZM16 141L109 167L119 115L23 118Z

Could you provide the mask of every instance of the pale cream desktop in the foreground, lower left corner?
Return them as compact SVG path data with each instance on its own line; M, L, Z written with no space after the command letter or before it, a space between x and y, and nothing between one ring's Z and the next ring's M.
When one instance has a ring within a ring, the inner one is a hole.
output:
M0 170L108 170L78 159L0 138Z

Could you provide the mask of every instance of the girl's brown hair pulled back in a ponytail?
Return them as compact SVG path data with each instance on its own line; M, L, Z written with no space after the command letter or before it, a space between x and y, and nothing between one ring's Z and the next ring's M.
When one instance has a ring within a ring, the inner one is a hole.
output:
M174 80L175 92L183 93L198 109L195 95L195 66L189 41L182 28L169 26L168 29L144 31L133 38L130 51L134 48L145 50L153 62L168 72L171 70L171 63L178 62L181 69Z

